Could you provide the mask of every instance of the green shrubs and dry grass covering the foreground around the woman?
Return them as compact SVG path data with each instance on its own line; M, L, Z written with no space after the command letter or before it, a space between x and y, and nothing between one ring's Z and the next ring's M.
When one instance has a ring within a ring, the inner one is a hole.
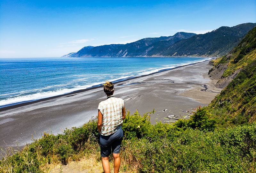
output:
M150 113L124 120L121 172L253 172L256 124L216 127L204 109L189 120L151 125ZM44 134L22 151L0 161L0 172L51 172L52 165L88 158L101 162L97 122L57 136ZM111 164L113 158L110 157ZM97 170L100 171L100 170Z

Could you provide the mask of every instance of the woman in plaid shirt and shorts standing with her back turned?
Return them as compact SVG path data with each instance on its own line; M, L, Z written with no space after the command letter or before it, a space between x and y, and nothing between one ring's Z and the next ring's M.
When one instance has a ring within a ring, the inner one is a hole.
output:
M124 100L113 96L115 86L106 81L104 92L107 100L100 102L98 107L98 130L100 133L100 156L105 173L110 173L108 156L113 152L114 173L120 168L120 147L123 140L123 120L125 118Z

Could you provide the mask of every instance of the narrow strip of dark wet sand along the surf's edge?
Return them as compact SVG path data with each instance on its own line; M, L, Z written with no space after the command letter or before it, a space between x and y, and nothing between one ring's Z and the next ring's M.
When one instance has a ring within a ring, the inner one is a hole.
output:
M173 57L176 57L176 56L173 56ZM177 57L180 57L180 56L177 56ZM191 57L194 57L194 56L191 56ZM198 57L201 57L201 56L198 56ZM153 72L153 73L149 73L149 74L145 74L145 75L140 75L140 76L135 76L135 77L130 77L130 78L127 78L127 79L125 79L125 78L124 79L118 79L118 80L114 80L112 82L114 84L117 84L119 82L125 82L125 81L131 80L131 79L137 79L137 78L141 78L141 77L146 77L146 76L150 76L150 75L153 75L153 74L156 74L156 73L160 73L160 72L164 72L164 71L169 71L169 70L173 70L173 69L176 69L176 68L185 67L185 66L188 66L188 65L198 64L198 63L202 63L202 62L206 62L206 61L211 61L212 59L214 59L216 57L215 56L212 56L212 57L205 56L205 58L211 58L211 59L209 59L209 60L202 60L200 62L186 64L186 65L180 65L180 66L177 66L177 67L174 67L174 68L163 69L163 70L159 70L159 71L156 71L156 72ZM72 91L72 92L69 92L69 93L66 93L66 94L60 94L60 95L52 96L52 97L46 97L46 98L42 98L42 99L36 99L36 100L30 100L30 101L24 101L24 102L17 102L17 103L11 103L11 104L7 104L7 105L2 105L2 106L0 106L0 112L5 111L5 110L9 110L9 109L19 108L19 107L22 107L22 106L27 106L27 105L30 105L30 104L33 104L33 103L48 101L48 100L59 98L59 97L62 97L62 96L68 96L68 95L72 95L72 94L79 94L79 93L82 93L82 92L85 92L85 91L89 91L89 90L93 90L93 89L96 89L96 88L99 88L99 87L101 87L101 84L90 86L90 87L85 88L85 89L75 90L75 91Z

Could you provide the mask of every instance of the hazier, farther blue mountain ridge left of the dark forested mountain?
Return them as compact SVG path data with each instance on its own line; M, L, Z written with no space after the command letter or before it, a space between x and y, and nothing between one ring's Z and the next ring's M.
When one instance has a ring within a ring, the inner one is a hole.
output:
M125 57L125 56L148 56L162 50L176 41L187 39L194 33L179 32L173 36L144 38L128 44L110 44L97 47L87 46L69 57Z

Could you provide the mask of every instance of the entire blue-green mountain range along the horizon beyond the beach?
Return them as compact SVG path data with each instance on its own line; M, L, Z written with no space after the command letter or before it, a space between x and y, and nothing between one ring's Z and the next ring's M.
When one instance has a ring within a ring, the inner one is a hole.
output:
M179 32L173 36L144 38L127 44L87 46L68 57L223 56L232 50L255 23L222 26L206 34Z

